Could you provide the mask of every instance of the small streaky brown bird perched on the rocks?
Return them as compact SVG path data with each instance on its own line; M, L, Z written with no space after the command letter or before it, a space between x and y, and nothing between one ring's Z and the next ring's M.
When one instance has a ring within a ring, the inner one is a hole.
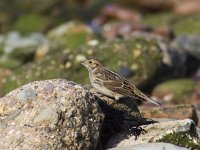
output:
M96 59L87 59L81 64L88 69L90 82L98 92L114 97L115 100L122 97L133 97L160 105L160 103L149 98L137 89L130 81L105 67L100 61Z

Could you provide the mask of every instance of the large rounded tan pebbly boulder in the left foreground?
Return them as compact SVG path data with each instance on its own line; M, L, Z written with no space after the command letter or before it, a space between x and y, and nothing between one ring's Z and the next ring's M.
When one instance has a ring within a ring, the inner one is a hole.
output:
M82 86L35 81L0 99L0 149L95 149L102 121Z

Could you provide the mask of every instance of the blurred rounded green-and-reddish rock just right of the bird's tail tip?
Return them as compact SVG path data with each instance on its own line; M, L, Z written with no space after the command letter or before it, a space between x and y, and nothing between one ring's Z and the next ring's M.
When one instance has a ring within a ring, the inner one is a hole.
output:
M199 103L199 82L191 79L174 79L157 85L152 95L165 104ZM196 95L196 97L195 97Z

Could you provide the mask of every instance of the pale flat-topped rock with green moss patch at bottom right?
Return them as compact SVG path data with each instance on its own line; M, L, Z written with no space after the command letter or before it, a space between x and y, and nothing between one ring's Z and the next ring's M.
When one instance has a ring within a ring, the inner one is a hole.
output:
M135 139L135 136L120 139L122 135L116 135L110 140L107 148L122 148L124 146L154 142L171 143L189 149L200 148L196 127L190 119L160 122L141 127L146 133L140 135L137 139Z

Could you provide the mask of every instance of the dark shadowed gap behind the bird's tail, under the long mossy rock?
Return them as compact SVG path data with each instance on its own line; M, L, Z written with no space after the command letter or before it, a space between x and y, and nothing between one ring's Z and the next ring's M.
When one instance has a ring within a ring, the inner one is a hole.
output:
M152 77L140 83L137 87L150 94L152 89L159 83L170 79L191 77L198 70L199 66L200 60L188 54L184 64L178 64L177 62L177 64L168 66L162 63Z

